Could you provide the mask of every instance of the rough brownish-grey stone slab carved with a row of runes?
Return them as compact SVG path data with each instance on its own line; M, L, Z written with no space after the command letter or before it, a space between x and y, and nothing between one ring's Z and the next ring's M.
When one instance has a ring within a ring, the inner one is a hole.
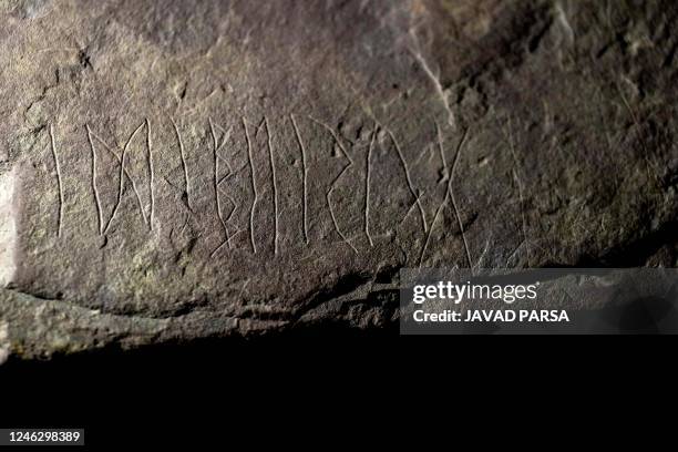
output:
M676 264L672 0L0 0L0 357ZM121 163L122 162L122 163Z

